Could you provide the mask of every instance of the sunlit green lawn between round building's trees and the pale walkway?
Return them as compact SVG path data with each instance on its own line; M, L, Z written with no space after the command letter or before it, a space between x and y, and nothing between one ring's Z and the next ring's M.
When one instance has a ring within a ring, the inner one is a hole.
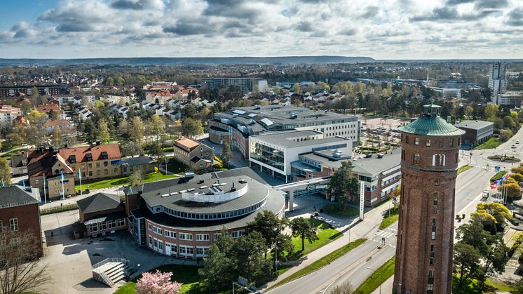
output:
M301 250L301 237L292 237L292 244L294 244L294 253L292 255L287 256L289 260L297 260L298 258L301 258L301 256L307 255L308 253L311 253L311 251L314 251L321 246L325 246L328 243L338 239L341 237L341 233L337 231L337 229L332 229L330 225L328 225L325 222L322 222L321 220L316 220L315 218L308 219L309 222L311 222L311 225L318 227L317 236L318 240L314 241L313 243L308 243L308 240L305 239L305 250Z

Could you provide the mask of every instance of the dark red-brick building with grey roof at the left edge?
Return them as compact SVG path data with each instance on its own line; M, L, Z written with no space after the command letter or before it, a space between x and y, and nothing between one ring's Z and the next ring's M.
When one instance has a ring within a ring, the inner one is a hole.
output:
M37 192L35 192L37 193ZM26 192L22 187L0 187L0 232L12 232L9 240L1 240L0 246L15 245L20 242L20 233L30 233L34 236L35 257L43 255L42 233L40 223L40 208L37 195ZM8 235L8 234L6 234ZM18 239L17 239L18 238Z

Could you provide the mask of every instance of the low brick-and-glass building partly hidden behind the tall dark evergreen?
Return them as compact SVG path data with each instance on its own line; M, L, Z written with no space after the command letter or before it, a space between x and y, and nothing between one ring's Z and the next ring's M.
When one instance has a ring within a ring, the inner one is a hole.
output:
M365 206L376 206L390 198L400 185L400 149L351 161L353 175L365 182ZM330 149L299 154L291 162L292 178L296 181L324 178L334 175L343 161L352 160L344 149Z

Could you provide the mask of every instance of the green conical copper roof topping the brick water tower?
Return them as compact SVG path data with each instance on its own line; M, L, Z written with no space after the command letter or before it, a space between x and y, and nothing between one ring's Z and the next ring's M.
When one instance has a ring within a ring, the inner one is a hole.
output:
M435 136L463 135L465 133L440 117L440 106L430 104L423 107L425 107L425 114L407 126L401 126L400 131L414 135Z

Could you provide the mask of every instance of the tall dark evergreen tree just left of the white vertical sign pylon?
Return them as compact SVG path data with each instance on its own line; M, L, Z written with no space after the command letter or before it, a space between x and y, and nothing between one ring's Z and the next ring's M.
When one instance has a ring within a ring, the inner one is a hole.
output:
M327 184L327 192L334 195L342 210L346 209L347 201L355 201L358 198L358 179L353 176L352 169L351 161L342 161L341 168Z

